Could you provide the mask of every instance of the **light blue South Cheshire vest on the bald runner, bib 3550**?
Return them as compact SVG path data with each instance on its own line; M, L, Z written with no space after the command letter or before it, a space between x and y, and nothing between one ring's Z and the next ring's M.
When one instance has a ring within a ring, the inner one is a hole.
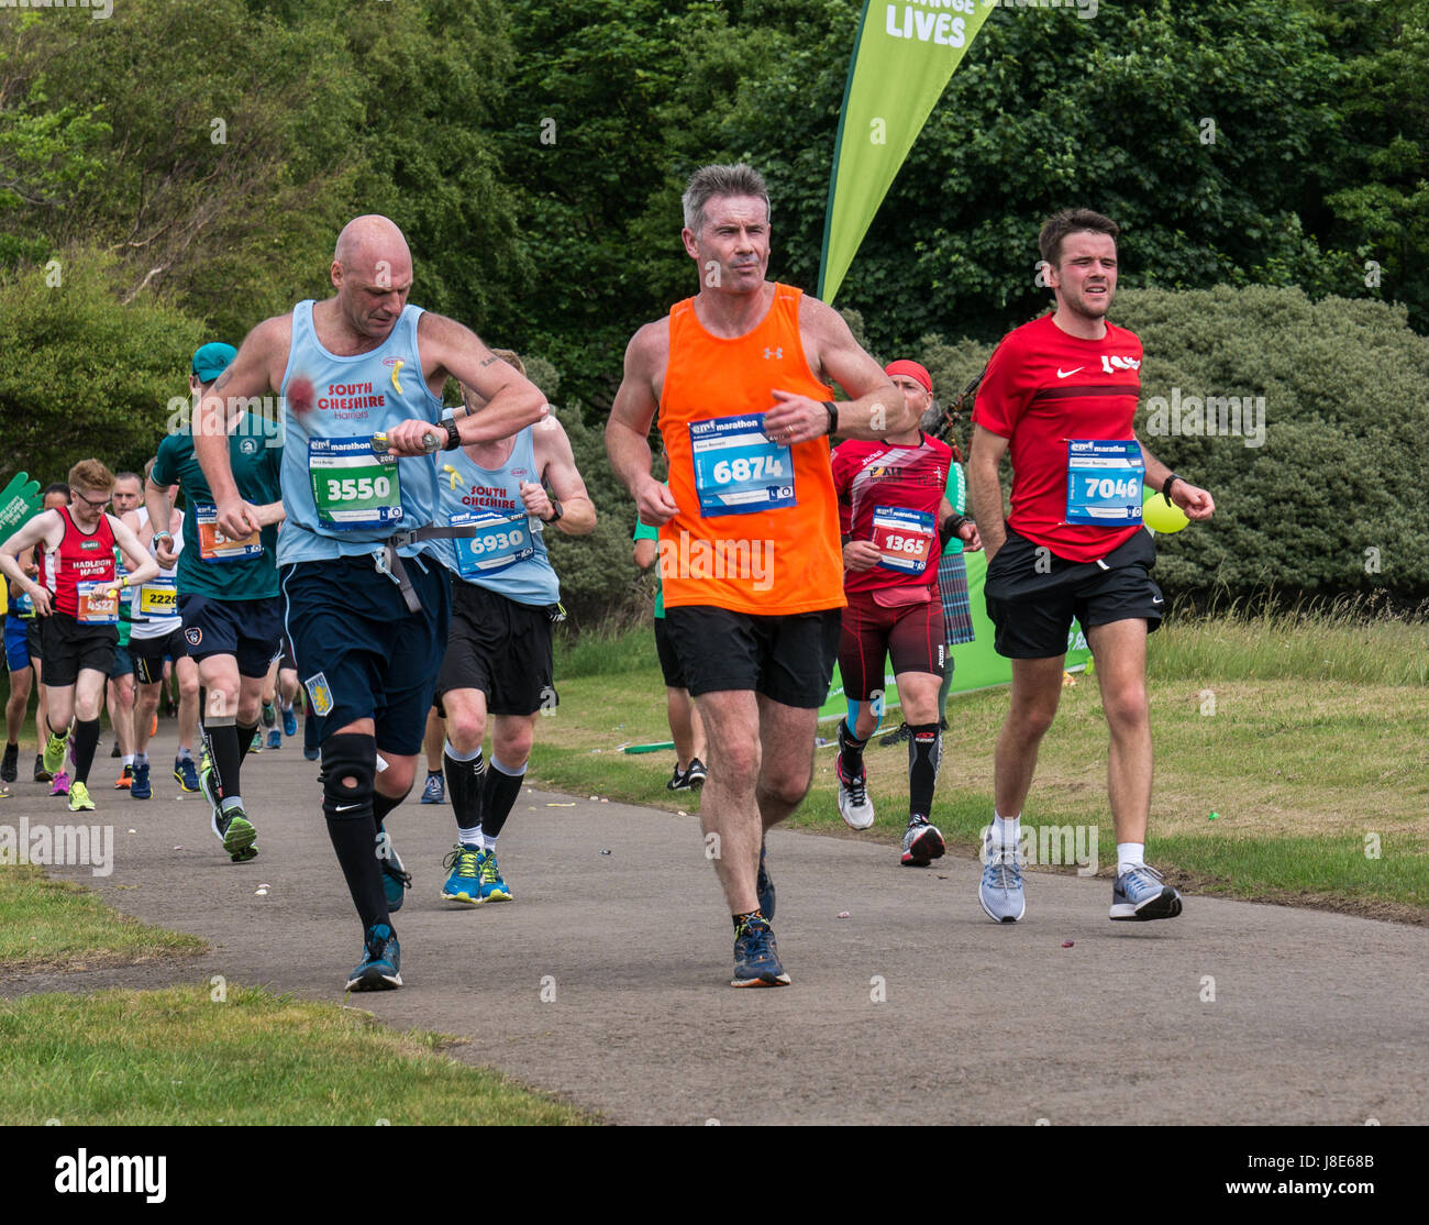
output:
M407 306L392 329L392 334L370 353L339 357L329 353L313 330L313 302L293 307L293 344L287 369L283 372L284 402L289 383L302 376L312 382L314 405L312 412L294 413L284 407L283 436L283 509L287 523L279 533L277 562L317 562L332 557L360 556L374 549L403 529L424 527L433 522L437 506L437 460L432 456L399 459L383 465L383 473L396 473L394 502L400 515L389 512L384 523L339 527L319 519L313 496L310 465L357 463L367 465L372 450L364 446L376 433L384 433L399 422L419 417L436 425L442 417L442 400L427 390L422 377L422 354L417 352L417 320L420 306ZM336 447L334 447L336 445ZM339 457L333 457L333 453ZM439 452L440 455L440 452ZM336 492L343 492L342 467L317 469L319 479L337 480ZM372 489L370 467L349 469L366 476L364 489ZM353 479L347 489L357 490ZM379 485L379 489L384 486ZM340 503L339 503L340 505ZM396 510L393 506L392 510ZM399 549L403 557L419 553L437 557L447 555L434 540L420 540Z

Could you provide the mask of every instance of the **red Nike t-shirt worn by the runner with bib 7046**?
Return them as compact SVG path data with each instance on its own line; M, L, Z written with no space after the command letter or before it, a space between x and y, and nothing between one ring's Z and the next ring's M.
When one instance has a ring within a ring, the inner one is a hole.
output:
M1007 525L1069 562L1096 562L1139 526L1067 523L1067 443L1129 442L1140 395L1142 342L1106 324L1100 340L1069 336L1050 314L1009 332L977 389L973 425L1009 440Z

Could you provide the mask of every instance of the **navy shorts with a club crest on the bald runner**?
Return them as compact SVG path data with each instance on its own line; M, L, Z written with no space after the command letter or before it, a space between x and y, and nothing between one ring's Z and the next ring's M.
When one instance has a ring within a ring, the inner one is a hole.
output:
M373 719L377 752L422 750L446 653L452 580L430 556L403 560L422 603L414 613L367 555L282 567L287 635L319 742Z

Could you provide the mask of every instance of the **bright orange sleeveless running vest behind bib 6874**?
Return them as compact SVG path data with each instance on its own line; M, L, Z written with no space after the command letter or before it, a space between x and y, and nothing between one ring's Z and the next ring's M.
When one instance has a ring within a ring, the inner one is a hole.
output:
M702 515L696 487L692 422L762 415L775 406L775 387L812 400L833 399L833 389L815 379L805 360L802 296L803 290L776 284L769 313L753 332L736 339L706 332L692 297L670 307L670 362L657 422L680 513L660 527L666 607L712 605L785 616L846 603L839 503L826 439L783 449L793 469L792 506ZM787 483L787 476L780 473L775 480Z

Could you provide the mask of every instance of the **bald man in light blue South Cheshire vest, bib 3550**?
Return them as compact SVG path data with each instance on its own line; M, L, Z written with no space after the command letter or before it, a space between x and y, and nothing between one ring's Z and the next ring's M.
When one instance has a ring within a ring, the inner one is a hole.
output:
M194 450L217 529L249 537L260 525L221 423L234 399L282 392L287 632L319 719L327 832L363 926L347 988L382 991L402 986L390 912L410 879L382 823L412 788L450 600L422 535L436 507L432 452L507 437L547 406L474 332L407 306L412 253L389 219L350 222L330 274L336 296L249 333L200 403ZM447 379L482 410L439 425Z

